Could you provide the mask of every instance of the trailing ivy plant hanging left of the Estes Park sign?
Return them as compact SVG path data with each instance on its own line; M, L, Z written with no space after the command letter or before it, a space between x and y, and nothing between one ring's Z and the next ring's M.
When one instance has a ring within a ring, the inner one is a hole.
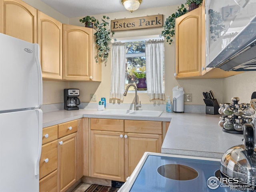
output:
M106 63L108 59L110 51L108 44L111 40L110 37L114 35L114 32L110 32L109 22L107 22L109 19L108 16L103 16L101 19L102 23L100 23L98 19L93 16L86 16L79 20L81 23L91 22L96 28L96 33L94 33L97 46L96 62L101 59L102 62Z

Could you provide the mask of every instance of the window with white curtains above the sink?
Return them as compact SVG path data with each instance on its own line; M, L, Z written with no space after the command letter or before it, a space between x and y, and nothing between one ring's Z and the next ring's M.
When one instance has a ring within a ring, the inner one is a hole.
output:
M136 76L146 76L150 101L164 100L164 39L148 36L144 39L114 39L112 42L112 72L110 98L123 100L128 84L136 84ZM136 72L136 76L131 72ZM137 82L137 81L136 81ZM131 90L134 90L132 87Z

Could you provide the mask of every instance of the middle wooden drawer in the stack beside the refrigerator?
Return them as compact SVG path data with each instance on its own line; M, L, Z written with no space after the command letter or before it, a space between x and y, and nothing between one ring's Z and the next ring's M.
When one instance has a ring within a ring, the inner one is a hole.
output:
M57 169L57 140L44 144L42 146L42 154L39 163L39 179ZM45 160L48 159L48 162Z

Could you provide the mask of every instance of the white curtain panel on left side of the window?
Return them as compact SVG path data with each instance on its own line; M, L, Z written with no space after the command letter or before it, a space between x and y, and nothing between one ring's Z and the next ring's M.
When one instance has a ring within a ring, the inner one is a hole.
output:
M112 43L110 99L117 99L121 101L123 101L124 99L123 94L125 87L125 51L125 43Z

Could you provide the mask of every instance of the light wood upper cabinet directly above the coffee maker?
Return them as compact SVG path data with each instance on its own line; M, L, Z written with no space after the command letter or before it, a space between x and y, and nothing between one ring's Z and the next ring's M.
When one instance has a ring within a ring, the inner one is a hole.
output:
M96 63L92 28L63 24L64 80L101 81L101 63Z

